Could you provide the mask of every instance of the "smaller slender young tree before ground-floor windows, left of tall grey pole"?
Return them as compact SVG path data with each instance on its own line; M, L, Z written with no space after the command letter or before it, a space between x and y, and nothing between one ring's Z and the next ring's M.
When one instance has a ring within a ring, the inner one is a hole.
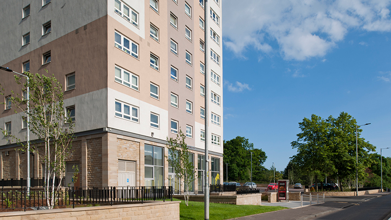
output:
M171 156L166 156L168 162L174 168L174 173L183 181L186 206L189 205L190 185L195 180L194 164L190 162L190 151L185 143L186 135L179 129L176 138L167 137L167 148ZM180 183L182 185L182 182Z

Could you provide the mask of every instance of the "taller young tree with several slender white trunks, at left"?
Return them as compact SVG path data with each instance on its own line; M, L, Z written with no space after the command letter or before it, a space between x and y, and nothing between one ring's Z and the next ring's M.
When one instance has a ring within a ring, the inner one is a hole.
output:
M71 150L74 123L69 117L69 112L65 112L62 85L54 75L46 77L38 73L24 72L23 74L28 76L29 81L23 82L18 76L15 76L15 80L18 85L22 86L23 91L27 91L26 88L29 86L29 112L27 112L27 100L23 94L15 94L12 91L11 100L17 107L15 113L19 112L30 118L29 130L44 143L43 152L34 148L32 152L38 152L43 158L45 198L49 208L52 208L65 176L65 158ZM15 136L7 137L25 146L25 143ZM56 176L60 178L60 181L55 186ZM53 178L51 185L50 178Z

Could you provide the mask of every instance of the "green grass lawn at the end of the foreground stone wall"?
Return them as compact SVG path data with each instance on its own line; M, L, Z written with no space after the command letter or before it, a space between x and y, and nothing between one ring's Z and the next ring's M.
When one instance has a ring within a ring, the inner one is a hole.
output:
M173 199L181 201L179 199ZM249 216L265 212L272 212L281 209L286 209L281 206L260 206L260 205L232 205L209 203L209 219L210 220L225 220ZM189 206L186 206L185 201L180 203L180 220L204 220L204 203L189 201Z

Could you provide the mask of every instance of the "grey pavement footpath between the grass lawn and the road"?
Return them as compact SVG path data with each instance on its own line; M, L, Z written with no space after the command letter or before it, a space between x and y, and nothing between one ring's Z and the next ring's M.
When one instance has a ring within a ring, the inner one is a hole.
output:
M301 206L301 201L275 203L262 202L262 205L282 206L289 209L245 216L232 220L310 220L342 210L344 208L348 208L349 206L356 205L360 201L362 202L369 198L381 197L389 194L390 193L383 192L359 197L326 197L326 202L321 202L323 198L319 198L319 203L317 203L316 198L315 200L312 198L312 204L309 205L309 201L303 201L303 207Z

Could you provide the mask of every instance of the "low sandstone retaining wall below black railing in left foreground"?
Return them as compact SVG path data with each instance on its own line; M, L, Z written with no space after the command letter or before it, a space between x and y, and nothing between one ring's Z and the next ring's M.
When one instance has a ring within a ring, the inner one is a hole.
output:
M179 220L179 201L145 202L144 204L127 204L113 206L95 206L38 210L26 212L1 212L0 219L66 219L66 220Z

